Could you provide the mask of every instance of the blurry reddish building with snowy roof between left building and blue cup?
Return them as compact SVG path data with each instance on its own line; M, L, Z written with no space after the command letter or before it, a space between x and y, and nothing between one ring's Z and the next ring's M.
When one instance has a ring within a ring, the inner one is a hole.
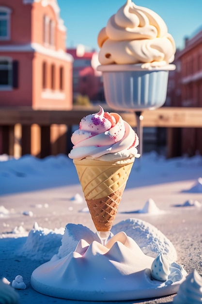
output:
M74 58L73 94L88 96L90 101L104 101L102 74L96 70L97 52L87 51L83 45L76 49L67 49Z

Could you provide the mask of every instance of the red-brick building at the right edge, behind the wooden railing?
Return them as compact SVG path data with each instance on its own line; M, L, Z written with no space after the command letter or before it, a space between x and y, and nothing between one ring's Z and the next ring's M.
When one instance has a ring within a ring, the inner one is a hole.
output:
M202 29L193 37L186 38L185 48L176 56L177 80L172 106L202 107ZM180 85L179 85L180 80ZM178 92L181 98L178 99ZM202 128L181 130L181 154L202 154Z

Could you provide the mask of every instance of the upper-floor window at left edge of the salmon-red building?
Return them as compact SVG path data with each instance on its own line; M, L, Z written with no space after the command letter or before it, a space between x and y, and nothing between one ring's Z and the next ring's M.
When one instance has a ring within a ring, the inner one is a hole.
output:
M10 39L10 15L10 8L0 6L0 40Z

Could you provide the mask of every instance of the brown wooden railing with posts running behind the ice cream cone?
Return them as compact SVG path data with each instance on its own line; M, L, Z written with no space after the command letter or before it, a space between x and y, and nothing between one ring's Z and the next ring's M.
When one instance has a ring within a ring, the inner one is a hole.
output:
M0 153L19 157L32 154L68 153L72 147L72 126L78 125L86 115L96 113L99 106L76 107L71 111L33 110L31 108L0 108ZM105 106L105 111L113 112ZM133 112L119 111L124 120L136 127ZM165 127L168 157L173 155L173 128L202 128L202 108L162 107L142 112L143 127Z

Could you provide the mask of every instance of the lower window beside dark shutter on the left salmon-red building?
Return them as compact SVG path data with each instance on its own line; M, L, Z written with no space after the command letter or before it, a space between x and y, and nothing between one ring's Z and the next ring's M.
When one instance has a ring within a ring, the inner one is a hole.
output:
M12 88L13 64L8 58L0 58L0 89Z

